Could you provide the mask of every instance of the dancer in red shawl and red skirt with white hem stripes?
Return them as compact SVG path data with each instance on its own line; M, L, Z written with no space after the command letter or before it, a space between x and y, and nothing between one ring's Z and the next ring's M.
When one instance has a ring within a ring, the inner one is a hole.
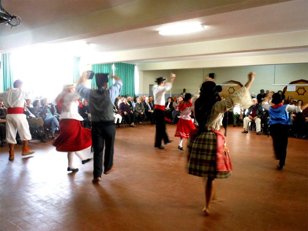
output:
M179 103L179 111L181 112L179 116L179 122L177 123L176 132L174 136L180 137L180 143L177 147L178 149L184 151L182 147L183 139L189 138L189 132L195 130L195 125L190 118L190 115L193 110L193 104L191 102L192 95L190 93L186 93L183 101ZM176 108L176 96L174 96L173 107Z

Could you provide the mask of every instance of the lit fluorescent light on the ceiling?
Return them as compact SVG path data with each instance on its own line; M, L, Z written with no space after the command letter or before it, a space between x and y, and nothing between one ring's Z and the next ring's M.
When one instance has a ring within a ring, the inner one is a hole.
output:
M161 35L169 35L169 34L186 34L199 30L204 30L205 26L197 23L197 22L188 22L188 23L180 23L172 26L165 26L158 33Z

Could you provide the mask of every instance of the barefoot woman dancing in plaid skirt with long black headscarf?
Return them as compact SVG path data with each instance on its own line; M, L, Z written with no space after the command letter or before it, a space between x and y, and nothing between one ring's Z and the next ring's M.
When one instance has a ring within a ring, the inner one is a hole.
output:
M204 177L205 215L209 215L215 192L214 179L228 178L232 170L228 148L219 131L223 115L237 103L243 108L252 105L248 89L254 76L255 73L250 72L245 86L224 100L221 100L217 93L221 92L221 86L216 86L213 80L206 81L202 84L200 97L195 102L195 117L199 128L190 134L187 167L189 174Z

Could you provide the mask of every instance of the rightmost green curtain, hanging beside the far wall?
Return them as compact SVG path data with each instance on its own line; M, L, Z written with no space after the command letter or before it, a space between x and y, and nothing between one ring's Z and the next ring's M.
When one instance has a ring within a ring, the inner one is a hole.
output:
M115 75L123 81L120 95L133 95L135 97L135 66L129 63L115 63Z

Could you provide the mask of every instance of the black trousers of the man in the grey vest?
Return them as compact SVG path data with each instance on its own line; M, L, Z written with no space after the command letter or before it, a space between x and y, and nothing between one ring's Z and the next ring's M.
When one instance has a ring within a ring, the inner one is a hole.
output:
M113 144L115 141L114 121L92 122L92 145L93 145L93 176L101 177L103 173L103 150L104 142L104 171L109 171L113 164Z

